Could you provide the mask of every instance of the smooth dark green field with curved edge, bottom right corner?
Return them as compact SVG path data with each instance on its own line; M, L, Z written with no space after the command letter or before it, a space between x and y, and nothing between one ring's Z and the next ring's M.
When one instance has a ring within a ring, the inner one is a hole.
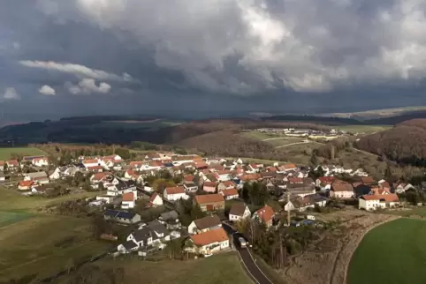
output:
M426 283L426 221L393 220L371 230L355 250L349 284Z

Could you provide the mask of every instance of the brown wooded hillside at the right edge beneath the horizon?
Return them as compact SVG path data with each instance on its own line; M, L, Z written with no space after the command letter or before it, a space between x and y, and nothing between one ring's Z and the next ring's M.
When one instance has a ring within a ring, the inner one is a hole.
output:
M425 166L426 119L399 123L390 130L361 138L356 146L370 153L385 155L393 161Z

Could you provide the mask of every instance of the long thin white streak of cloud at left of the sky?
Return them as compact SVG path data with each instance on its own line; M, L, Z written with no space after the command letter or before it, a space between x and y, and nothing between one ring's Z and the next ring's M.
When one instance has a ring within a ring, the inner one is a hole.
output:
M132 76L127 73L123 73L123 75L119 76L114 73L91 69L87 66L80 64L64 64L57 63L53 61L30 61L30 60L21 60L19 64L22 64L31 68L39 68L48 71L59 71L64 73L73 74L79 78L95 78L99 80L116 80L116 81L136 81Z

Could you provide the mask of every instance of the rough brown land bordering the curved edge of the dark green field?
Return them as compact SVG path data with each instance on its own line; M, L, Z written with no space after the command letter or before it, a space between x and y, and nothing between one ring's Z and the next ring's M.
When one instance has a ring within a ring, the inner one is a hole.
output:
M296 284L345 283L347 265L362 237L369 229L395 218L398 217L350 208L322 214L320 220L337 221L337 227L326 231L315 243L309 244L307 250L294 256L283 277Z

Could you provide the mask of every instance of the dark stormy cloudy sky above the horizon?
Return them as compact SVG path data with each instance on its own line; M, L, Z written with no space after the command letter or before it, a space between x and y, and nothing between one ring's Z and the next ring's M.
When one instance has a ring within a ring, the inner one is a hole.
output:
M426 105L422 0L0 1L2 113Z

